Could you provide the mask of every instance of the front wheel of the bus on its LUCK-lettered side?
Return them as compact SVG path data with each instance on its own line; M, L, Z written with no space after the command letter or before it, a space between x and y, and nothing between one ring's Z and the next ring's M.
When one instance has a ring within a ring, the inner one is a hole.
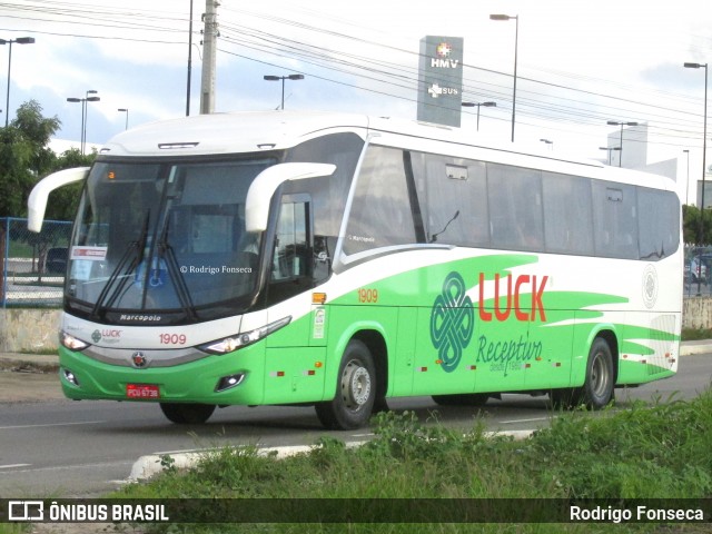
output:
M326 428L350 431L368 423L376 400L376 366L370 350L352 339L338 368L336 396L318 403L316 415Z

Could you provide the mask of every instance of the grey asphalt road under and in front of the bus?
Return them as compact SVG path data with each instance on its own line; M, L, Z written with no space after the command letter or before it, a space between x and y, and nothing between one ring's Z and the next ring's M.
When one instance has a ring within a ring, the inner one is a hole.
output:
M712 354L685 356L676 376L616 390L620 409L632 399L692 398L712 380ZM436 406L429 397L390 402L446 425L472 427L477 408ZM493 431L534 429L550 422L547 397L504 395L484 408ZM369 428L326 432L310 407L229 407L208 424L168 423L151 404L51 400L0 404L0 497L99 496L117 488L144 455L226 444L312 445L320 436L364 441Z

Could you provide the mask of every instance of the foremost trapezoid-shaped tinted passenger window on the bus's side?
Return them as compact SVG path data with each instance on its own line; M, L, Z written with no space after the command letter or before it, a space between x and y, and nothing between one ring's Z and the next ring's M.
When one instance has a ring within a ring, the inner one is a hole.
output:
M362 164L344 251L416 243L403 151L372 146Z

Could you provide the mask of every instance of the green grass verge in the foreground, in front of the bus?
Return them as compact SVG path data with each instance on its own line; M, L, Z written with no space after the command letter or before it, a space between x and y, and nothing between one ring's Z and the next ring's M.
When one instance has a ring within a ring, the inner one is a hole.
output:
M653 405L633 404L625 411L558 414L552 418L550 428L537 431L521 442L486 436L485 425L478 419L464 434L448 429L437 421L421 422L411 412L378 414L375 423L376 437L357 448L347 448L334 438L323 438L310 453L277 461L259 455L256 447L222 447L206 453L195 468L185 472L176 469L170 456L165 456L162 463L167 469L160 476L147 484L130 485L115 496L149 500L423 498L435 506L434 497L621 500L712 496L710 392L689 402L665 399ZM259 504L258 501L254 503L255 506ZM304 513L307 513L314 503L304 503ZM324 501L322 506L328 507L328 503L334 501ZM444 507L456 504L455 501L441 503ZM363 515L354 513L354 517ZM437 521L437 515L434 518ZM279 523L150 525L147 532L705 532L698 528L700 526L709 525L682 524L670 530L655 524L354 522L309 524L306 530L305 525Z

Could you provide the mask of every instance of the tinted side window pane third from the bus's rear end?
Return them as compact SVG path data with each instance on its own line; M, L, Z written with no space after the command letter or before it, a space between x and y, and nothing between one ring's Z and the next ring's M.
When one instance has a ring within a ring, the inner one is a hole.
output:
M591 180L543 172L547 253L593 255Z

